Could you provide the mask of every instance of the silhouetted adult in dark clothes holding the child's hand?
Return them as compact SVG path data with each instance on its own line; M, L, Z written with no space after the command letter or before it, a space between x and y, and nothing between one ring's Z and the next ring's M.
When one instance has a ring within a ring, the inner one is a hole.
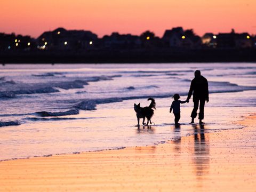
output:
M193 93L193 102L194 102L194 108L191 113L191 123L194 123L194 119L197 116L197 109L199 106L200 101L200 107L199 107L199 123L203 124L202 120L204 119L204 105L205 101L209 102L209 90L208 90L208 82L205 77L201 75L201 71L196 70L195 71L195 78L191 81L190 89L188 92L187 101L189 102L189 99L191 98L191 95Z

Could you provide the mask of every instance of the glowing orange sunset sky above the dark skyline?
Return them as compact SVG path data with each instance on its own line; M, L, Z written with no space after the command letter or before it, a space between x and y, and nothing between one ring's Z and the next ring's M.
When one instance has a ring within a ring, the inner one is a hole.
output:
M182 26L198 35L231 28L256 34L255 10L255 0L1 0L0 32L38 37L64 27L101 37L149 29L162 37L165 29Z

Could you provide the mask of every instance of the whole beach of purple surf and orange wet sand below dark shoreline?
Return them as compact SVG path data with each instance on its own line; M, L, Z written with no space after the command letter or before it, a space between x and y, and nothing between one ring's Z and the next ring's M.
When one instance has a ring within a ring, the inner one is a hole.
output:
M209 82L190 124L194 71ZM255 191L254 63L0 68L0 191ZM156 110L137 125L134 103Z

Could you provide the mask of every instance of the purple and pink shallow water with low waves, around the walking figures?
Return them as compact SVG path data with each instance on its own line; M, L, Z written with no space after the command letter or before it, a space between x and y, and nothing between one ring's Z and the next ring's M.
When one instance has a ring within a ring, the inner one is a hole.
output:
M180 129L169 108L174 93L186 99L196 69L209 81L205 132L241 128L230 121L255 111L255 63L1 67L0 159L157 145L194 134L191 100L181 106ZM148 106L148 97L156 99L156 125L138 130L133 103Z

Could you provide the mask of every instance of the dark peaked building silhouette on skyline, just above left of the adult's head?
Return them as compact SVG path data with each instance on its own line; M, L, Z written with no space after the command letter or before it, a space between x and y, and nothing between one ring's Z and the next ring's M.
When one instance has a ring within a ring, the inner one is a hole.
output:
M193 30L184 31L182 27L166 30L162 38L169 47L182 47L196 49L201 47L201 38L193 33Z

